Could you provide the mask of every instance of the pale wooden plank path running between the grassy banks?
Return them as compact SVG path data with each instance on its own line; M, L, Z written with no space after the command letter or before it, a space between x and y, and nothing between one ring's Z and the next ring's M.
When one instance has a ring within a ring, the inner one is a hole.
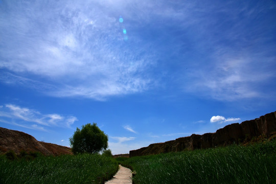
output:
M131 184L132 183L132 173L131 170L119 165L118 172L113 176L112 179L105 182L105 184Z

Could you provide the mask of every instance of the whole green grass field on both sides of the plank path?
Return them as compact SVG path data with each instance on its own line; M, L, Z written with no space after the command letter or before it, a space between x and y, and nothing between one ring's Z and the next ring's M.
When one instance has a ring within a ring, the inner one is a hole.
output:
M1 155L0 183L103 183L117 172L118 162L136 171L136 184L276 181L276 140L117 160L97 154L29 156Z

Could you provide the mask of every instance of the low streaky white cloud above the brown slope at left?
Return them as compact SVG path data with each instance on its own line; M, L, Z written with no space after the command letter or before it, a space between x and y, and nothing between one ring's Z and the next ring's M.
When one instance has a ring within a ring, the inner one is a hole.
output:
M45 128L57 126L71 128L71 125L78 121L76 117L64 117L60 114L42 114L37 110L20 107L14 104L6 104L0 110L1 122L14 124L30 129L45 131ZM33 124L35 123L35 124Z

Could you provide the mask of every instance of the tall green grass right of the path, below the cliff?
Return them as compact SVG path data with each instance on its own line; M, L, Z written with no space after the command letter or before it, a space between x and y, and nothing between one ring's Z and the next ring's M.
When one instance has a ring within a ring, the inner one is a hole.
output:
M273 183L276 141L131 157L134 183Z

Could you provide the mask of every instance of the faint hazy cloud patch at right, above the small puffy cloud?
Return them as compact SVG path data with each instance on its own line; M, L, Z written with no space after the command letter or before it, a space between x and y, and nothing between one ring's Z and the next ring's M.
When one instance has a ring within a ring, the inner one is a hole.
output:
M272 80L275 75L254 65L257 60L265 60L270 63L271 60L260 56L241 57L217 56L211 67L201 68L197 71L196 76L192 74L194 83L187 89L221 101L259 98L265 97L264 93L272 93L272 91L264 92L257 86L263 85L269 79ZM199 88L200 90L198 90Z

